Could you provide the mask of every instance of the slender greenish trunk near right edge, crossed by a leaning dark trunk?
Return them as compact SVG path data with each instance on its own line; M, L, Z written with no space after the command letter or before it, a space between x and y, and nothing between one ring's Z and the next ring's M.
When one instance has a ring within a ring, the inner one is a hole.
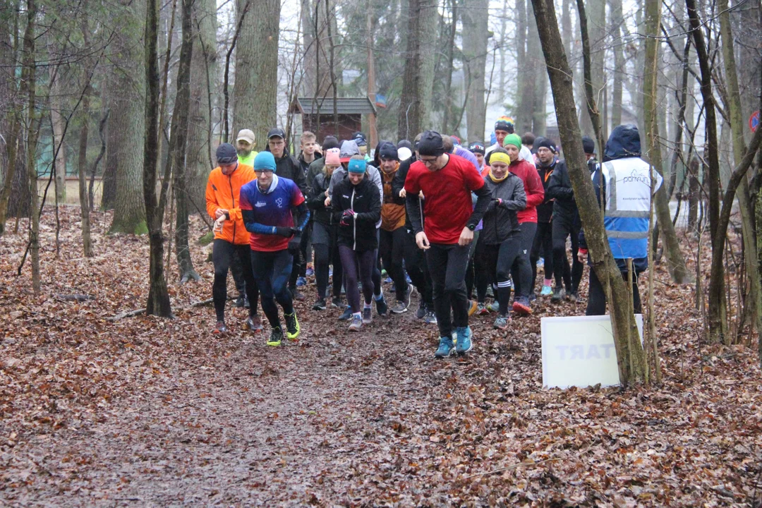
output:
M728 0L719 0L720 34L722 37L722 61L725 63L725 81L728 88L728 109L730 110L730 126L732 129L733 159L735 165L744 156L744 118L741 115L741 92L738 88L738 72L735 65L733 34L730 26ZM749 275L749 291L745 307L751 312L751 319L757 333L762 333L762 299L760 299L760 276L757 272L757 235L754 231L754 207L749 196L749 182L741 178L738 185L738 206L741 211L741 228L744 235L744 263Z

